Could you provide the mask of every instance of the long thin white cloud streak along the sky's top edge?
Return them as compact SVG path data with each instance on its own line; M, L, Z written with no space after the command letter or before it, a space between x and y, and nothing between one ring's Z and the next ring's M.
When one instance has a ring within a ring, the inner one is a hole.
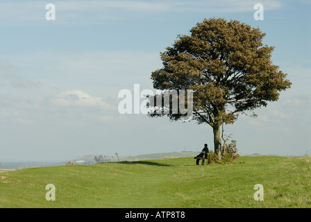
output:
M128 19L150 12L253 12L258 1L53 1L56 6L56 24L77 24L103 20ZM280 1L261 1L264 10L277 10ZM10 1L0 3L2 26L46 25L47 2ZM126 13L129 12L130 14Z

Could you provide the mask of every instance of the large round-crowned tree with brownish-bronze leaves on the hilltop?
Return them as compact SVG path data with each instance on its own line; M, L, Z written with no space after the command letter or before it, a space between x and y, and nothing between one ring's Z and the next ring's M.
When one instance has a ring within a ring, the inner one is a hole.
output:
M152 72L151 80L155 89L193 90L192 120L212 127L217 153L223 124L234 123L246 112L255 117L255 108L277 101L280 91L292 83L272 64L274 46L262 44L265 33L259 28L213 18L197 23L190 33L178 35L174 44L160 53L163 67ZM153 104L155 97L149 96ZM150 117L163 115L171 121L183 116L149 112Z

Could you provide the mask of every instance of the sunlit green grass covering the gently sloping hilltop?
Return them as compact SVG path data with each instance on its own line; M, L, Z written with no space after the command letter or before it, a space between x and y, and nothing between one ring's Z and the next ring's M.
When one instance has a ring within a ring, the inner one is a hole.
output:
M5 177L5 178L4 178ZM56 187L47 201L46 185ZM264 200L255 201L256 184ZM39 167L0 173L0 207L311 207L311 157L193 157Z

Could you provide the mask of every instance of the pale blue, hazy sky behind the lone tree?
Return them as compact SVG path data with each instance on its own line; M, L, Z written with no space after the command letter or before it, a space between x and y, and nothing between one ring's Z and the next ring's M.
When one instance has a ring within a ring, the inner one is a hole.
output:
M46 17L48 3L55 20ZM254 18L256 3L263 20ZM240 115L224 134L240 155L310 154L310 11L308 0L1 0L0 162L213 149L208 125L118 111L121 89L152 89L160 52L213 17L260 28L292 82L258 117Z

